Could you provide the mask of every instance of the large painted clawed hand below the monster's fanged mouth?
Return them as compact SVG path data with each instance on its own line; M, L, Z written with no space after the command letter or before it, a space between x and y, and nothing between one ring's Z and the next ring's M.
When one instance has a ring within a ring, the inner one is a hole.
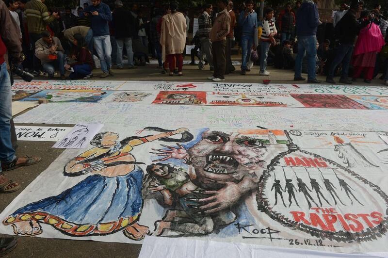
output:
M210 197L201 199L188 199L197 202L198 205L192 205L198 209L198 213L211 214L220 210L225 210L234 205L241 197L239 186L233 182L222 182L225 187L218 191L198 190L201 194L209 194ZM193 191L195 193L195 191Z

